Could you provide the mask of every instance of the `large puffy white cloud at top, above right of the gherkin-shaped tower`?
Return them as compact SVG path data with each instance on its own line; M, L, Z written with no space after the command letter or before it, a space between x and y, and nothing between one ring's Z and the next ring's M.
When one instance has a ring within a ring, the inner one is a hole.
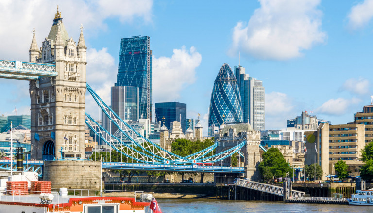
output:
M233 45L238 51L258 59L287 60L302 55L318 43L326 33L321 31L320 0L259 0L247 25L238 22L233 29Z

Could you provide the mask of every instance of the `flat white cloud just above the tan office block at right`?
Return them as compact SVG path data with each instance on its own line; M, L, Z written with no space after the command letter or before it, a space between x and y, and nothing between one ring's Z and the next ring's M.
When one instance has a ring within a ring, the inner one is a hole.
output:
M349 107L361 102L360 99L352 98L352 99L344 99L344 98L337 98L337 99L330 99L322 104L316 111L318 113L326 114L326 115L344 115L348 112Z

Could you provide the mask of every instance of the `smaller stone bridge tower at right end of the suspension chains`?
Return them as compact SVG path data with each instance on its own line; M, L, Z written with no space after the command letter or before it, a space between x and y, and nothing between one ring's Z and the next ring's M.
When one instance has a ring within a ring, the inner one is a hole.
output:
M219 127L219 134L215 135L215 141L218 142L216 153L224 152L237 144L246 142L241 149L244 158L238 157L238 162L245 167L245 177L250 180L259 180L260 174L257 166L260 162L259 144L260 131L255 131L249 123L237 122L222 124ZM225 158L219 162L219 166L230 166L231 158Z

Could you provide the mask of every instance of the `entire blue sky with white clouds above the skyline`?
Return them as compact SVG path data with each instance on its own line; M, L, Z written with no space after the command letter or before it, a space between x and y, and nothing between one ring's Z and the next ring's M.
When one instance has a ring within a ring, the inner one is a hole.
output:
M109 102L120 38L150 36L153 102L187 104L207 125L220 67L240 63L266 91L266 129L312 111L332 124L353 121L372 93L373 0L0 2L0 58L28 61L35 27L39 47L60 5L69 36L84 26L87 82ZM29 113L28 82L0 79L0 114ZM86 110L97 107L87 97ZM95 116L94 116L95 117ZM204 132L206 135L206 132Z

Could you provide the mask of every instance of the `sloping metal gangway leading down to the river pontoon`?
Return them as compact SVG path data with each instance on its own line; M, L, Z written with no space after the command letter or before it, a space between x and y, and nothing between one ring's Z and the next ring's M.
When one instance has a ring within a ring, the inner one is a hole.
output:
M259 182L255 182L255 181L249 181L247 179L236 179L235 184L237 186L245 187L245 188L248 188L248 189L254 189L254 190L257 190L257 191L266 192L266 193L270 193L270 194L273 194L273 195L278 195L278 196L284 196L285 197L283 187L279 187L279 186L275 186L275 185L271 185L271 184L266 184L266 183L259 183ZM305 193L301 192L301 191L292 190L291 195L289 195L289 196L291 196L292 198L304 198Z

